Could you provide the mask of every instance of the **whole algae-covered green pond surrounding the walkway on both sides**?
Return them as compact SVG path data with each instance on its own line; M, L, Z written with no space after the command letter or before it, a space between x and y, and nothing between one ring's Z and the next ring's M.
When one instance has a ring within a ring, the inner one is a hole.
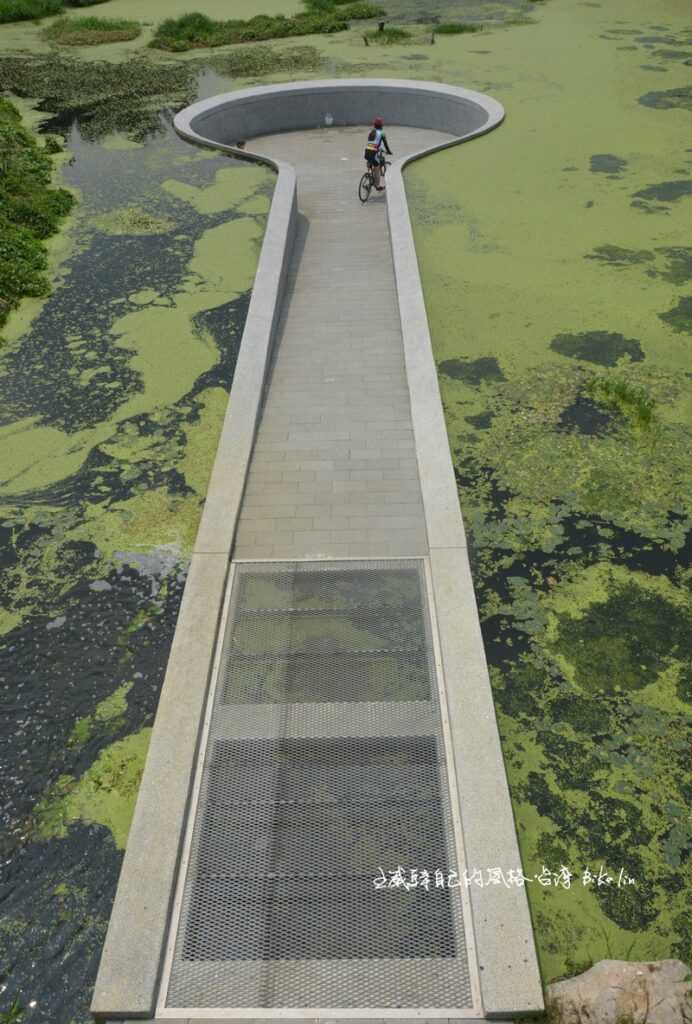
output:
M528 885L544 980L692 959L687 5L386 6L407 44L150 52L146 102L93 63L146 34L79 50L78 88L39 62L40 26L2 28L0 85L62 133L78 203L52 294L0 350L0 1014L88 1019L271 197L267 170L176 139L170 110L298 76L449 81L506 108L406 187L524 869L577 876ZM483 31L432 45L455 18ZM636 886L582 885L601 865Z

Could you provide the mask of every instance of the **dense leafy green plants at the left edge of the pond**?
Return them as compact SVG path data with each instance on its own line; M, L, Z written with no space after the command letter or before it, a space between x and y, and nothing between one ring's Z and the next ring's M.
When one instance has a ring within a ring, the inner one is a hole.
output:
M50 157L0 98L0 326L25 296L49 291L43 240L74 203L67 189L51 187L51 175Z

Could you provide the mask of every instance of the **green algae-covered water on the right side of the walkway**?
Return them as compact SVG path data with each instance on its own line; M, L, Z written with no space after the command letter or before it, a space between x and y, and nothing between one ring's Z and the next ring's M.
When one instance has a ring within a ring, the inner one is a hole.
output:
M692 34L534 18L438 41L507 121L406 188L524 870L575 874L527 883L549 982L692 958Z

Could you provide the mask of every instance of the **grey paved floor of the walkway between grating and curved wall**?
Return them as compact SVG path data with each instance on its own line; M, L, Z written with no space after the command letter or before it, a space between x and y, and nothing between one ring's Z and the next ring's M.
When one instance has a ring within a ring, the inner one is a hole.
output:
M356 196L366 131L248 145L295 166L302 217L235 559L428 550L386 203ZM449 136L395 127L388 137L400 157Z

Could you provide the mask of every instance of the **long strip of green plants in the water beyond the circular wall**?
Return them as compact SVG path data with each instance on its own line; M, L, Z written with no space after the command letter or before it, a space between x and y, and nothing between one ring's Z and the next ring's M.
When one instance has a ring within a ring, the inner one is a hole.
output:
M200 11L193 11L181 17L169 17L162 22L149 46L179 52L199 47L284 39L289 36L343 32L348 29L349 18L376 17L381 13L380 7L361 2L343 5L332 2L323 8L311 9L294 14L292 17L284 14L256 14L248 20L220 22Z

